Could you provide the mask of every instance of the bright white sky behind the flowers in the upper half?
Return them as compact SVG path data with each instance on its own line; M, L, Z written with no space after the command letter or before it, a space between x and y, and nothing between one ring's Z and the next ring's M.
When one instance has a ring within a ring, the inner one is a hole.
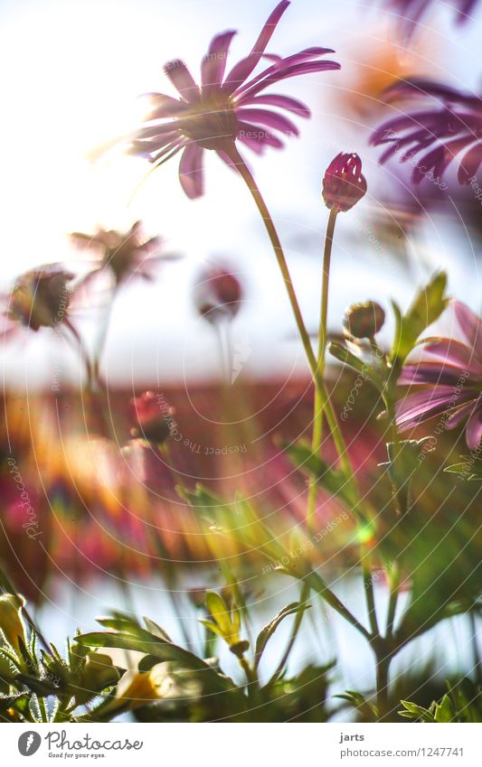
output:
M66 233L90 231L98 224L128 229L142 219L148 234L161 234L169 249L184 254L182 263L165 269L156 288L141 293L133 287L119 299L108 343L114 377L130 379L135 371L140 378L165 379L183 371L200 372L203 364L213 369L215 342L194 316L190 287L198 265L219 258L231 262L246 281L247 304L235 335L238 341L248 339L248 366L266 372L303 364L296 344L279 343L293 330L288 304L250 197L232 172L209 157L207 193L202 201L188 201L176 181L175 160L153 174L129 206L146 165L120 155L97 166L87 159L93 147L136 124L143 112L139 94L171 92L162 72L165 61L183 58L197 74L213 34L229 28L240 31L232 46L236 61L250 49L274 5L275 0L4 0L1 5L2 285L25 268L79 257ZM376 207L378 185L391 172L378 171L379 153L366 145L367 126L336 117L336 99L366 70L376 46L392 34L373 5L374 0L365 5L356 0L293 0L269 46L288 54L308 45L326 45L336 49L335 58L343 63L340 73L310 75L283 85L285 92L307 100L314 117L309 123L300 121L301 138L284 152L273 151L252 162L286 244L310 327L316 325L319 253L326 225L320 180L326 164L341 150L363 156L373 192L357 208L357 219L340 222L332 324L339 323L345 305L354 300L384 300L388 294L405 300L411 294L398 267L393 271L393 266L377 264L369 244L357 242L354 224ZM424 39L426 61L419 63L434 77L477 88L482 17L456 31L443 5L432 17L441 33ZM413 256L411 280L449 261L453 285L463 285L464 298L479 308L477 280L466 285L466 262L473 269L470 248L464 245L464 255L454 264L452 240L443 226L430 223L427 230L428 237ZM7 379L17 380L33 367L41 379L44 341L35 338L23 349L20 358L16 348L5 352Z

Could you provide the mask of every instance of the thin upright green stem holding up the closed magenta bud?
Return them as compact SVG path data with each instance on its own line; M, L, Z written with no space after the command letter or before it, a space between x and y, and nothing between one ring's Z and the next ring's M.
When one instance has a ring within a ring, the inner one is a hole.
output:
M323 277L321 285L321 305L319 314L317 370L323 379L325 376L325 351L328 317L328 290L330 282L330 262L333 248L333 236L335 234L337 209L332 208L326 227L325 251L323 254ZM315 387L315 400L313 405L313 435L311 439L311 451L319 454L323 443L323 398L319 388ZM308 488L307 498L307 530L313 532L315 515L317 510L317 482L311 482Z

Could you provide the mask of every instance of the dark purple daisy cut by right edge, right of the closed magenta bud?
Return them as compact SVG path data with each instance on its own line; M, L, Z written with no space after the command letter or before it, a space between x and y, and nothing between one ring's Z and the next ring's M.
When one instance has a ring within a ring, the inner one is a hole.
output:
M458 182L473 182L482 162L482 98L430 80L400 82L386 94L425 99L428 104L421 111L401 113L376 129L371 143L390 145L380 162L400 152L401 162L413 166L412 182L420 183L427 176L440 178L460 154Z

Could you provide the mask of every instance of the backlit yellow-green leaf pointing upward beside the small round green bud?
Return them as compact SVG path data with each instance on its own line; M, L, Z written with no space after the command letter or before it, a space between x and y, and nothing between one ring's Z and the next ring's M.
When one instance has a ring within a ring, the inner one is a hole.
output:
M434 323L449 304L445 295L447 275L439 272L428 285L421 288L408 311L400 312L397 304L392 303L395 313L396 332L391 352L391 361L402 367L416 341L429 325Z

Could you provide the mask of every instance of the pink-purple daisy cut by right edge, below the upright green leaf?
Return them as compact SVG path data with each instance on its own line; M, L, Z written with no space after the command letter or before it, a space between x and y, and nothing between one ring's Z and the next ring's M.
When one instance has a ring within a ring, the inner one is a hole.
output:
M467 420L466 440L475 450L482 438L482 321L468 306L454 302L461 340L433 338L424 347L427 359L405 365L400 383L426 385L397 407L402 431L433 416L453 429Z

